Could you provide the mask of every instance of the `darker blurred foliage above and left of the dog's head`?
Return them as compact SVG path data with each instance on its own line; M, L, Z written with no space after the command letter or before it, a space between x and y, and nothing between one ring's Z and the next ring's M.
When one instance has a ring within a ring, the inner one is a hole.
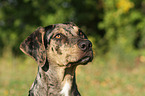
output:
M87 34L93 34L97 29L96 21L99 20L96 15L98 11L96 3L94 0L2 0L0 2L1 49L10 46L17 54L19 44L38 26L56 23L73 21L87 29Z

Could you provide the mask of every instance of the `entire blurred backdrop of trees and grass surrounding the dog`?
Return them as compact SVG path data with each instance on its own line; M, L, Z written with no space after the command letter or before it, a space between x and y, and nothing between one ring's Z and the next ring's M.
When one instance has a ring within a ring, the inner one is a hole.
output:
M28 94L37 64L19 45L64 22L93 42L93 62L77 68L82 96L145 96L145 0L0 0L0 96Z

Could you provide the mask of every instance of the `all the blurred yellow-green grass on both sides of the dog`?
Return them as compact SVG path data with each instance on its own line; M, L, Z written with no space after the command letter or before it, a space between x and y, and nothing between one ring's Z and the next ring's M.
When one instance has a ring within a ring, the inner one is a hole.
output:
M133 53L95 56L76 73L82 96L145 96L145 62L136 63ZM36 74L33 59L14 57L7 51L0 58L0 96L27 96Z

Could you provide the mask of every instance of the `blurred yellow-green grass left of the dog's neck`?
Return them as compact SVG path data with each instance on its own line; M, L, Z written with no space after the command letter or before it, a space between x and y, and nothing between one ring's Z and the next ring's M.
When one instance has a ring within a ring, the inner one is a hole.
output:
M5 52L0 58L0 96L27 96L37 64L29 57L16 58L11 51Z

